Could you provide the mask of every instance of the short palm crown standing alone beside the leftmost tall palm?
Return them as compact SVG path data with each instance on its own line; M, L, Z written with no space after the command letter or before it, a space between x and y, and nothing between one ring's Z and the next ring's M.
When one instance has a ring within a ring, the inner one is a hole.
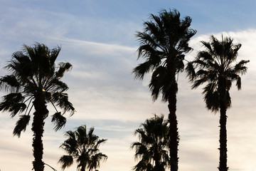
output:
M68 131L65 133L67 140L63 142L60 147L68 153L60 157L60 164L62 169L70 167L75 159L78 163L78 170L89 171L100 167L100 162L107 160L107 155L100 152L99 147L106 139L99 139L93 134L94 128L90 128L87 133L86 125L78 127L74 132Z

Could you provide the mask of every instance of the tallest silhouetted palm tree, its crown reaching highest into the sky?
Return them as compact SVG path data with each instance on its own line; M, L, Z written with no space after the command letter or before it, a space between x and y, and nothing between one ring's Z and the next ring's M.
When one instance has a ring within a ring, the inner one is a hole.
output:
M178 170L178 125L176 118L176 93L178 84L176 74L183 71L185 53L191 51L190 38L196 31L189 28L191 18L180 19L181 14L174 11L161 11L159 16L151 14L151 21L144 22L144 32L137 32L141 46L138 58L145 58L144 63L134 68L135 78L142 80L146 73L152 73L149 89L155 101L162 94L161 100L169 105L169 139L171 170Z

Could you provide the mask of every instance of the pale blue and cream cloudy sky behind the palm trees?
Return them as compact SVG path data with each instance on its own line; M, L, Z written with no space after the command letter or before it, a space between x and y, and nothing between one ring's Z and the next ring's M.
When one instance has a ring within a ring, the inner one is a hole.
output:
M59 148L65 131L80 125L94 127L95 134L107 142L100 147L108 156L102 171L129 171L136 165L132 142L134 130L144 120L168 115L166 103L151 100L148 83L134 80L139 42L136 31L150 14L163 9L177 9L181 16L191 16L191 28L197 33L186 56L193 60L202 49L200 41L210 35L230 36L242 43L238 60L250 60L242 76L242 90L230 90L232 108L228 115L228 167L234 171L256 171L256 1L203 0L0 0L0 76L12 53L23 44L45 43L49 48L61 46L58 62L68 61L73 70L65 75L69 98L76 113L68 117L65 128L55 132L46 119L43 135L43 161L60 170L58 159L65 152ZM179 170L217 170L219 113L206 110L202 87L191 90L185 73L178 76L177 117L180 142ZM0 95L4 95L1 92ZM50 114L54 110L50 108ZM32 169L32 132L28 125L21 138L12 135L18 116L0 113L0 170ZM76 165L66 170L75 170ZM46 166L45 170L51 170Z

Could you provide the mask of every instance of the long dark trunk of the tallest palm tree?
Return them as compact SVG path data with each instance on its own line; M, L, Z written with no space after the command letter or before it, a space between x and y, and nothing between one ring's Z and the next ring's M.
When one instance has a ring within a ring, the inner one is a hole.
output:
M169 150L171 157L171 171L178 170L178 121L176 117L176 92L177 92L177 83L175 78L175 63L172 61L171 65L168 68L169 76L171 79L171 88L169 89L169 98L168 98L168 108L169 108Z

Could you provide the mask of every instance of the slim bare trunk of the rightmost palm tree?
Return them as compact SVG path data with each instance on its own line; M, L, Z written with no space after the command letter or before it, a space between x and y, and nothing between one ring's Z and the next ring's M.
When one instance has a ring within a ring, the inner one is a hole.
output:
M228 171L227 167L227 115L225 105L220 105L220 171Z

